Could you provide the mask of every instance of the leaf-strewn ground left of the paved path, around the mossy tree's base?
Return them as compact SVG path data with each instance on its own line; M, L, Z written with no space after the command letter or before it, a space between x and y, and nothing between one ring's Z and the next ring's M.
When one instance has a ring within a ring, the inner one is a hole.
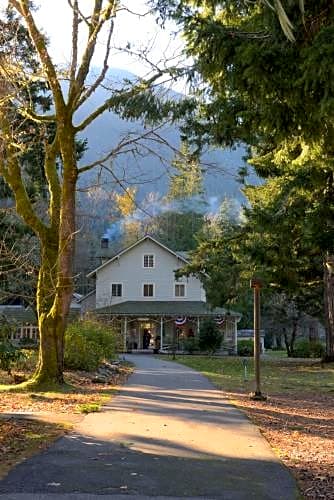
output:
M82 418L83 410L90 411L108 400L131 371L130 367L120 367L106 384L94 384L92 373L66 372L65 379L70 386L59 392L2 391L0 478L14 465L66 433ZM2 383L11 383L4 372L0 372L0 379Z

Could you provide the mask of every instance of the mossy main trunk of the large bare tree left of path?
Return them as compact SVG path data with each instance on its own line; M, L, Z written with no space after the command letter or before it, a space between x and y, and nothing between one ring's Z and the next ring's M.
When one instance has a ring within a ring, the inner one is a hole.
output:
M30 385L64 383L64 337L73 291L75 189L77 167L74 136L66 133L62 148L63 184L59 226L51 227L42 241L42 263L37 290L39 361Z

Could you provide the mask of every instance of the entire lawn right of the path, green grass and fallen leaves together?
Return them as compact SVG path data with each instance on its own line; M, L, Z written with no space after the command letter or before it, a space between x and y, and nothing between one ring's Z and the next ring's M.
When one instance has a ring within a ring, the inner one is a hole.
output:
M166 359L166 358L165 358ZM334 366L315 359L265 355L261 389L266 401L251 401L253 360L177 356L200 371L259 426L273 450L295 475L305 499L333 499Z

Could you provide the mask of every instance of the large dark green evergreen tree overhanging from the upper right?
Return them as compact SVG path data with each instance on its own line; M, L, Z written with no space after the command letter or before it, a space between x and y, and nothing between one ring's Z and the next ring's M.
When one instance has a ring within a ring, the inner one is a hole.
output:
M157 4L182 26L187 53L194 58L193 74L202 78L197 118L192 113L185 125L190 140L249 145L251 163L265 179L256 196L247 192L258 215L253 220L264 215L256 208L261 196L274 204L277 195L277 215L284 217L274 217L273 230L296 222L305 238L289 257L283 255L287 245L276 247L277 260L281 256L290 270L287 279L293 278L296 264L299 282L308 283L318 253L326 352L334 359L333 3L308 3L302 15L297 2L284 2L284 9L283 2L275 2L276 12L260 0ZM282 30L287 20L294 28L293 43ZM294 231L285 238L293 243Z

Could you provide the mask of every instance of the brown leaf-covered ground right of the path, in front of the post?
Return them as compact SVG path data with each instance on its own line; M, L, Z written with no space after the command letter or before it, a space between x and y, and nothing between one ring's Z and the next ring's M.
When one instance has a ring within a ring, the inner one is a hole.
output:
M224 393L255 422L306 499L334 499L334 397L277 394L265 402Z

